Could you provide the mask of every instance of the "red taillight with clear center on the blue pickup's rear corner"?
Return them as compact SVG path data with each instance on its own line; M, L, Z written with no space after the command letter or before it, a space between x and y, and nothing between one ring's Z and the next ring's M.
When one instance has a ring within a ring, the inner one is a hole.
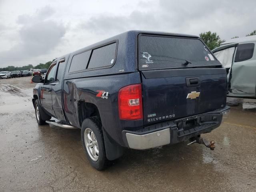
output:
M118 109L121 120L143 118L141 84L128 85L119 90Z

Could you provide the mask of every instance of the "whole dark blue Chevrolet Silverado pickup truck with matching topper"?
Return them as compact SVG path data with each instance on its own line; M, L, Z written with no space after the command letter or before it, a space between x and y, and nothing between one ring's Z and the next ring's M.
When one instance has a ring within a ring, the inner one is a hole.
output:
M192 35L128 31L57 58L32 81L38 124L80 128L98 170L124 148L190 140L213 149L200 134L230 110L226 69Z

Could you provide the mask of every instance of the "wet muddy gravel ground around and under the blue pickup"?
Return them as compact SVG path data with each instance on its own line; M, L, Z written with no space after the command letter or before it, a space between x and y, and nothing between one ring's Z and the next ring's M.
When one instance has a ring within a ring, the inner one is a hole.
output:
M0 80L0 192L256 192L256 100L228 98L229 118L188 142L127 149L104 171L89 165L80 130L38 126L30 77Z

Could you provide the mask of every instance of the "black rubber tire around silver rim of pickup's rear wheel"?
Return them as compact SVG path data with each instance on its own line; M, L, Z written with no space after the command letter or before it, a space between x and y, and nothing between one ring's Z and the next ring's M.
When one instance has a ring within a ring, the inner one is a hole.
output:
M90 152L88 152L88 150L86 148L84 132L87 130L87 128L89 128L96 136L96 142L97 142L97 146L98 146L98 159L97 160L93 160L90 157L90 154L89 154ZM96 168L97 170L103 170L104 168L106 168L106 166L108 164L108 159L106 158L106 150L105 150L105 145L104 145L102 124L100 122L100 118L95 116L95 117L87 118L83 121L82 128L81 128L81 140L82 140L84 152L85 152L87 159L90 162L91 166Z

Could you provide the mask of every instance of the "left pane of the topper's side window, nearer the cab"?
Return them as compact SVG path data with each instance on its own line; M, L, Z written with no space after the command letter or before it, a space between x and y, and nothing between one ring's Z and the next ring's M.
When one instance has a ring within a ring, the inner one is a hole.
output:
M90 58L91 50L74 55L68 72L85 70Z

